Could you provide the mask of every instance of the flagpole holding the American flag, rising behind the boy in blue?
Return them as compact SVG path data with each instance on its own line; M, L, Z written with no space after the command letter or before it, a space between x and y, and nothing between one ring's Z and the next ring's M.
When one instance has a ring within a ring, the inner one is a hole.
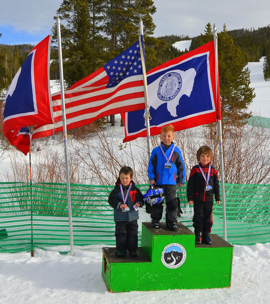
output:
M148 160L150 160L151 156L151 143L150 143L150 112L149 112L149 104L148 104L148 90L147 90L147 77L146 77L146 68L145 68L145 57L143 52L143 46L141 37L144 35L143 30L143 21L140 18L140 35L139 35L139 43L140 43L140 52L142 59L142 68L143 68L143 77L144 77L144 91L145 91L145 123L146 123L146 135L147 135L147 151L148 151Z

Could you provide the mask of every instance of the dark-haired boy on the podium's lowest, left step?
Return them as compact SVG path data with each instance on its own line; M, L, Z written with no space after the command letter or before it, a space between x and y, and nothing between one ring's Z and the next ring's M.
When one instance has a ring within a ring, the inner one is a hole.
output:
M114 208L116 256L137 256L138 208L143 207L144 197L132 181L133 170L122 167L108 202Z

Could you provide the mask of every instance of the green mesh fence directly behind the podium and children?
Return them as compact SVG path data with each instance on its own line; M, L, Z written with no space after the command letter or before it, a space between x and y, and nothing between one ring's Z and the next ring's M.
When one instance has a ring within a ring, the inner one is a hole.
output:
M113 209L107 203L113 186L71 184L74 245L115 245ZM148 185L139 185L142 193ZM0 252L70 245L65 184L0 183ZM179 188L183 216L192 230L193 208L186 186ZM226 184L227 239L251 245L270 241L270 185ZM212 233L223 237L222 204L214 205ZM143 220L150 220L145 210ZM141 241L141 227L139 244Z

